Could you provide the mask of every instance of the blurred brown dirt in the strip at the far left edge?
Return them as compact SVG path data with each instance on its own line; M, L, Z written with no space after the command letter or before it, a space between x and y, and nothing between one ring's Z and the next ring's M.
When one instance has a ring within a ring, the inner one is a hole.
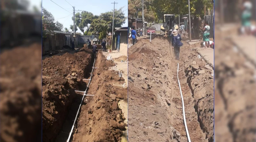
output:
M41 141L41 44L0 55L0 141Z

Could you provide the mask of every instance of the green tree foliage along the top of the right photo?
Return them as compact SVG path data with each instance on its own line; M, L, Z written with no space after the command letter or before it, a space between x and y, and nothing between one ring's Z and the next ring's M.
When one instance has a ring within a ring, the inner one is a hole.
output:
M142 18L141 0L128 0L128 4L128 15L133 18ZM213 0L190 0L190 14L203 17L204 5L211 10ZM158 23L163 20L164 14L188 14L188 0L144 0L145 21Z

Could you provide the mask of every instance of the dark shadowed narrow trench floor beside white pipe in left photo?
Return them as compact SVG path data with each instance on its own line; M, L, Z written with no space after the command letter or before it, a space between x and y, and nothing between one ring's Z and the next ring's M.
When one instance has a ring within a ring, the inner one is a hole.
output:
M86 68L84 68L84 77L83 78L90 78L91 76L91 72L92 72L92 67L93 67L93 59L94 57L92 57L92 61L90 63L90 65ZM96 58L97 59L97 58ZM95 62L96 62L95 59ZM77 91L85 91L86 87L87 87L87 83L88 81L83 81L83 78L81 78L80 82L77 82L78 85L78 90ZM76 97L73 99L71 106L68 109L68 114L66 117L66 120L64 122L64 124L62 125L62 129L60 131L60 133L58 134L55 142L66 142L69 136L69 133L72 129L73 123L75 121L76 118L76 114L77 114L77 110L80 106L81 100L83 98L83 93L76 93ZM82 105L86 105L86 103L83 101ZM79 110L81 111L81 109ZM78 114L77 118L79 118L80 113ZM71 135L71 139L72 139L72 135Z

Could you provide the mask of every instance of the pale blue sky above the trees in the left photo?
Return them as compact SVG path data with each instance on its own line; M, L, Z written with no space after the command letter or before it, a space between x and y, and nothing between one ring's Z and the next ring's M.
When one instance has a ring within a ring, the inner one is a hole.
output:
M37 1L37 0L35 0ZM56 5L56 4L60 5ZM125 16L128 16L128 0L42 0L42 5L43 7L52 13L54 16L55 20L59 21L60 23L63 24L63 27L67 27L69 29L70 25L73 25L72 21L72 14L73 13L73 8L72 6L75 6L75 10L84 10L84 11L89 11L92 12L93 15L100 15L100 13L104 13L107 11L111 11L114 8L114 1L118 4L115 5L115 9L119 9L124 6L123 10L125 13ZM68 4L69 3L69 4ZM72 6L71 6L71 5ZM69 13L69 12L70 13ZM81 12L81 11L77 11ZM64 18L65 17L65 18ZM124 23L123 26L128 26L128 19L126 19L126 23ZM71 31L69 29L69 31ZM79 28L78 31L79 33L82 33Z

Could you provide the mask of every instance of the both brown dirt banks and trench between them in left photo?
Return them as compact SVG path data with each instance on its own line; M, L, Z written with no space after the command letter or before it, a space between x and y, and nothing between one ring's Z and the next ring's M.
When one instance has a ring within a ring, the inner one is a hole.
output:
M89 80L83 79L91 77L92 61L89 49L43 60L43 141L67 141L83 97L75 90L85 91ZM124 135L127 117L118 102L127 102L127 88L113 87L124 84L116 71L108 71L114 65L97 53L87 93L95 96L84 98L70 141L120 141Z

